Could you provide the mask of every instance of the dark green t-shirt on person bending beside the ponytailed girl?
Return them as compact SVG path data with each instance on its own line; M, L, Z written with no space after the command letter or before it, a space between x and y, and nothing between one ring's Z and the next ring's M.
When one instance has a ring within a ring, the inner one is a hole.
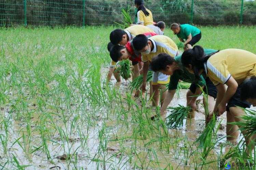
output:
M204 49L204 53L206 55L209 55L213 52L216 52L217 50L212 50L212 49ZM179 70L175 70L173 72L173 74L171 75L171 78L170 78L170 82L169 82L169 87L168 89L169 90L175 90L177 89L177 85L178 85L178 82L179 80L182 80L184 82L187 82L187 83L195 83L199 86L204 86L205 85L205 76L203 76L202 74L200 75L200 80L197 80L195 78L195 74L192 74L190 72L188 72L188 70L182 65L181 63L181 55L178 55L174 58L174 60L178 63L178 65L180 66L180 69Z

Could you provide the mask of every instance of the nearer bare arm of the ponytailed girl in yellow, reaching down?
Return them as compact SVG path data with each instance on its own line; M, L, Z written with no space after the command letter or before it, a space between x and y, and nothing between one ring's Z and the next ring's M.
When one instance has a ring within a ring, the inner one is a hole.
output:
M226 82L226 85L228 86L221 102L215 104L215 108L213 112L218 112L218 116L221 116L225 111L226 111L226 104L228 103L228 101L230 100L230 98L236 93L237 91L237 81L234 80L234 78L231 76L228 81ZM219 88L225 88L225 86L217 86L217 90L219 90ZM218 91L219 94L219 91Z

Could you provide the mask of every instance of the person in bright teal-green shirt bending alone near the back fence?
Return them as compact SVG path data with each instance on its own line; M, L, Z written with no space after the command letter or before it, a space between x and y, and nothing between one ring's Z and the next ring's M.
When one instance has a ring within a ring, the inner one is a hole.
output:
M173 23L171 24L171 30L177 35L180 41L184 43L184 50L191 49L202 36L198 28L189 24Z

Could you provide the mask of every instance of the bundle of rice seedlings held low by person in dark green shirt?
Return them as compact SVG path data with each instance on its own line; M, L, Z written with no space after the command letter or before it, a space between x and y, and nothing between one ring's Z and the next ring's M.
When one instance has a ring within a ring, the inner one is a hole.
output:
M166 118L166 125L168 128L180 128L183 126L183 119L186 119L188 114L192 111L190 106L168 107L172 109L171 114Z

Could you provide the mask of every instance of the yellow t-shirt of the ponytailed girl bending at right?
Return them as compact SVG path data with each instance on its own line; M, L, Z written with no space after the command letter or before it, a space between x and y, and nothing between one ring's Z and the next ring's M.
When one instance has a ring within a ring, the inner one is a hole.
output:
M226 49L212 55L204 64L207 76L216 86L232 76L238 84L256 75L256 55L240 49Z

